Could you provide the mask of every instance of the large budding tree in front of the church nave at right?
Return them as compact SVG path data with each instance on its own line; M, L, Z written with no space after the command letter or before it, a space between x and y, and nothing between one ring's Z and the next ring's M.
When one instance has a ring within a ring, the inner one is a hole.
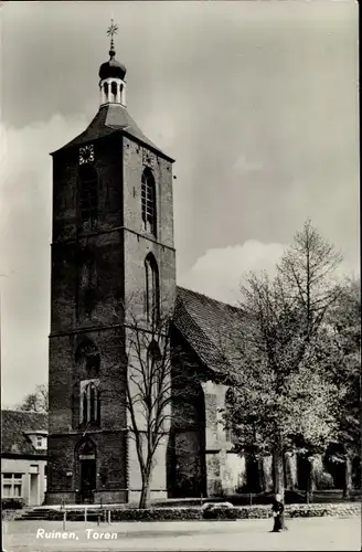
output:
M238 367L226 423L239 449L273 454L275 492L284 495L287 450L322 450L333 435L334 384L319 351L324 318L339 296L331 280L340 261L308 221L277 275L251 274L242 286Z

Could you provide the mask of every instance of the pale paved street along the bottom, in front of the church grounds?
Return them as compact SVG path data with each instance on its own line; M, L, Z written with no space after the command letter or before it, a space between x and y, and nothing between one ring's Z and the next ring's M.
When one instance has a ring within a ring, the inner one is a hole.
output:
M361 520L358 517L287 521L288 531L284 533L269 533L272 520L123 522L99 527L68 522L67 539L54 537L53 531L62 532L61 522L11 521L3 522L3 546L7 552L361 550ZM109 532L110 539L102 538L105 532Z

